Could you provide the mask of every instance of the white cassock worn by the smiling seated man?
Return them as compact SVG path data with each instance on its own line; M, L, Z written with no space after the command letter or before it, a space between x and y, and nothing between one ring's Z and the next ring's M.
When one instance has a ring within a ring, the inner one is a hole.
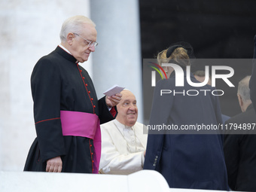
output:
M125 126L115 119L102 124L100 128L100 173L128 175L143 169L148 134L143 134L142 123L136 122L134 126Z

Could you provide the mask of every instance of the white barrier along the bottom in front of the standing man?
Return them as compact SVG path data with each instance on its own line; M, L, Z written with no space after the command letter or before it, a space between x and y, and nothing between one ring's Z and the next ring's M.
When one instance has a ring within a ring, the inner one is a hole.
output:
M142 170L130 175L48 172L0 172L1 192L169 192L158 172Z

